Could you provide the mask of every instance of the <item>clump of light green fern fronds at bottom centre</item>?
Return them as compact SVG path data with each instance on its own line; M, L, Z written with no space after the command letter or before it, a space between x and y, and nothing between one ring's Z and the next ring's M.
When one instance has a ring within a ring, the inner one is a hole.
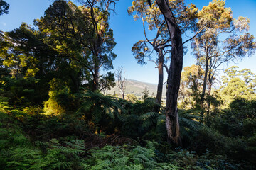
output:
M172 164L156 162L154 144L149 142L146 147L134 147L132 150L124 147L105 146L92 151L86 169L176 169Z

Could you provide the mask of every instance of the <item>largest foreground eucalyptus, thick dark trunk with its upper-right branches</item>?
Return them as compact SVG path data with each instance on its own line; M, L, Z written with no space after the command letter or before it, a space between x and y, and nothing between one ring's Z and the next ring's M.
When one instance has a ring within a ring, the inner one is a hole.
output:
M188 17L197 11L196 6L191 5L190 7L188 7L188 10L180 10L181 6L179 6L178 4L180 2L183 3L183 1L156 0L155 2L164 16L166 28L169 33L169 40L171 41L171 63L168 69L168 79L166 88L166 130L168 135L167 138L169 142L179 144L180 137L177 98L181 81L181 71L183 67L183 45L186 42L189 42L190 40L195 38L196 35L198 35L198 33L201 33L203 28L194 27L193 24L191 25L191 27L188 26L188 23L191 22L191 19L193 21L196 20L197 15L192 15L193 17L191 18ZM169 2L173 5L170 5ZM148 3L149 6L151 6L152 1L148 1ZM178 13L177 11L181 12ZM189 13L188 11L191 11L191 13ZM179 14L181 14L181 16L185 16L185 18L178 20ZM187 20L188 23L184 22L184 25L179 23L179 21L186 21L187 17L189 18ZM194 32L191 38L188 38L184 41L182 40L183 28L187 28L187 30L192 30L192 32Z

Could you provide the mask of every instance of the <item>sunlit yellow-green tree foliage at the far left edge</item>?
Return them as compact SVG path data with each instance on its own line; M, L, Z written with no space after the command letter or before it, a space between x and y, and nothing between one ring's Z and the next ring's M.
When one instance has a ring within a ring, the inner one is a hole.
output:
M39 71L36 58L37 51L34 45L38 44L38 35L26 23L19 28L4 33L1 41L1 59L3 64L11 70L12 76L35 77Z

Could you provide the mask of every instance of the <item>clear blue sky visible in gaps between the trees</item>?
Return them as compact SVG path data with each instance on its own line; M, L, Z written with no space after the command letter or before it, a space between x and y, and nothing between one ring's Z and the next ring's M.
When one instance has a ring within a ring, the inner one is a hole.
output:
M10 31L18 28L22 22L33 25L33 20L43 16L44 11L53 0L6 0L10 4L8 15L0 16L0 30ZM196 4L199 9L207 6L208 0L187 0L188 4ZM114 30L114 38L117 42L114 52L117 54L114 60L114 69L124 67L127 79L157 83L158 75L155 64L149 62L143 67L137 64L132 55L132 45L138 40L144 40L144 33L141 21L134 21L127 13L127 8L132 6L132 0L119 0L116 6L117 14L112 14L110 18L110 28ZM226 6L233 11L233 17L246 16L250 18L250 33L256 36L256 0L226 0ZM188 43L189 46L189 43ZM188 52L183 58L183 67L194 64L195 58ZM245 57L242 61L230 63L224 66L228 68L238 65L240 69L251 69L256 73L256 54Z

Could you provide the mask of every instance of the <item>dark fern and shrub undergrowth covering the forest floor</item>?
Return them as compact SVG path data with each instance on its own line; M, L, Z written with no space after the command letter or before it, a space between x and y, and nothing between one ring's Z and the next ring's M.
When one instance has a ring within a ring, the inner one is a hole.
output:
M109 103L109 110L99 108L105 120L95 121L86 118L87 112L93 109L90 103L87 109L62 115L45 115L40 106L13 108L8 103L3 104L0 111L1 169L254 168L255 135L250 135L255 130L254 117L243 120L244 125L239 124L247 130L240 137L235 136L237 132L224 135L225 131L220 129L223 127L218 124L220 118L211 120L213 127L218 125L218 128L211 128L199 123L196 111L181 110L183 147L176 147L164 142L164 111L152 112L148 106L152 102L150 98L144 103L116 102L119 103ZM119 107L126 111L118 110ZM233 113L238 112L234 107ZM110 111L114 109L122 118L112 117ZM231 114L228 110L225 112ZM239 112L235 114L240 116ZM98 123L102 121L111 128L101 129Z

